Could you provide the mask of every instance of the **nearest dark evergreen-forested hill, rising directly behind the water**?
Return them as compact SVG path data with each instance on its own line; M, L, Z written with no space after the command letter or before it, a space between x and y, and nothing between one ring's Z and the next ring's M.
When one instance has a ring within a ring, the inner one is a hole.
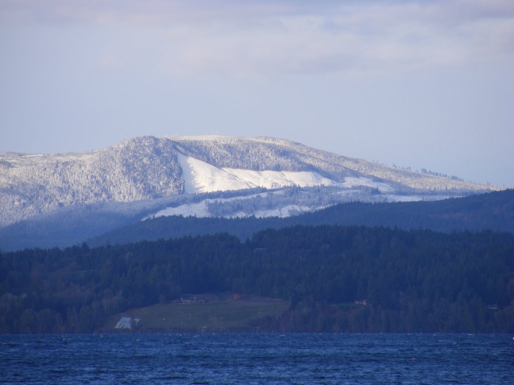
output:
M89 333L186 293L281 298L263 331L514 332L514 236L295 226L0 256L2 333ZM365 300L365 302L364 302ZM357 301L357 303L355 303Z

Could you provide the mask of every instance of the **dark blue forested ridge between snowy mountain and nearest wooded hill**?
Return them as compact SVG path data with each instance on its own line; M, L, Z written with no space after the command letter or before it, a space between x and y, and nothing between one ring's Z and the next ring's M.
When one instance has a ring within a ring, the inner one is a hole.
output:
M97 246L219 232L227 232L244 241L262 229L298 224L425 228L440 232L492 229L514 234L514 190L434 202L353 202L289 218L161 217L108 232L87 243Z

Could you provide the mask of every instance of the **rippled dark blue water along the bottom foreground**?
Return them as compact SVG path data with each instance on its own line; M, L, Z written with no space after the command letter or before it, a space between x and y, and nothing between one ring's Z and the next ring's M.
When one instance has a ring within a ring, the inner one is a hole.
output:
M467 334L2 335L0 383L514 384L514 340Z

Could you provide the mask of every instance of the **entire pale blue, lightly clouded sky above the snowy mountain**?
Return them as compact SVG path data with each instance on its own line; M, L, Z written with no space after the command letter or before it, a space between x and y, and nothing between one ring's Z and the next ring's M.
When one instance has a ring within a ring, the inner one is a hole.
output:
M514 2L0 0L0 151L204 134L514 186Z

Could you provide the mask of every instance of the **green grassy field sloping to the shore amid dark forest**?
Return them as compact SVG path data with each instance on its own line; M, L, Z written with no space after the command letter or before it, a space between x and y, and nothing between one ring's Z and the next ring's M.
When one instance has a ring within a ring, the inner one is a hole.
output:
M226 293L210 296L201 303L155 304L132 309L109 317L98 331L129 331L115 326L121 317L130 317L132 332L255 332L265 317L279 317L287 307L288 303L282 300L260 297L234 300L232 294Z

